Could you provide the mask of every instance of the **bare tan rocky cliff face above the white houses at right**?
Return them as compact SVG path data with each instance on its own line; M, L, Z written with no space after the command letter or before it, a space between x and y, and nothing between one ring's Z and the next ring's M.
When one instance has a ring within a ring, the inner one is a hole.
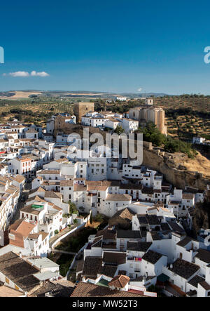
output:
M188 185L199 190L205 190L207 184L210 184L209 176L204 176L196 171L188 171L183 166L184 157L187 156L185 154L168 154L144 147L143 164L155 171L160 171L165 179L176 187L184 188Z

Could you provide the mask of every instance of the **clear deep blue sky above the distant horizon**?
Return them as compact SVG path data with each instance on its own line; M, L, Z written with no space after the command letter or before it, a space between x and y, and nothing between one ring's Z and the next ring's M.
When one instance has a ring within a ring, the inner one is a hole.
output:
M1 1L0 91L210 94L209 10L206 0Z

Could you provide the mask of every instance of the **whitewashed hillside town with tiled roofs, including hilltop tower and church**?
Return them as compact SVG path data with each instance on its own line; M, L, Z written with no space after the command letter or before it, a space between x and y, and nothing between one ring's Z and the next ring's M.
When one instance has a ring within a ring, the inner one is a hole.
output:
M125 114L79 102L45 128L0 124L0 296L210 296L210 230L192 235L210 184L179 189L105 144L84 157L90 142L71 135L76 125L128 135L148 121L167 135L165 112L151 98ZM90 234L63 276L50 254L97 216L106 226Z

